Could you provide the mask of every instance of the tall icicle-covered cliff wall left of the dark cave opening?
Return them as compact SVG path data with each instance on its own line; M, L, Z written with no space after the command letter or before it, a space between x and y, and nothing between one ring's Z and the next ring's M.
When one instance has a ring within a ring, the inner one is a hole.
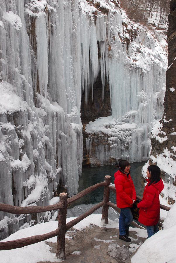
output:
M75 6L1 1L0 202L48 205L59 183L77 193L83 140ZM1 212L0 219L4 238L34 218Z

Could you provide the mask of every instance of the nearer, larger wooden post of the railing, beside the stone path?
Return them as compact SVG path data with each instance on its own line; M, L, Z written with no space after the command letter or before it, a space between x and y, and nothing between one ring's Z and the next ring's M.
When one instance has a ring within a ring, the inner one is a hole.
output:
M66 232L66 216L67 216L67 193L61 193L59 195L60 202L64 209L58 210L58 236L57 236L57 251L56 257L59 259L65 259L65 232Z

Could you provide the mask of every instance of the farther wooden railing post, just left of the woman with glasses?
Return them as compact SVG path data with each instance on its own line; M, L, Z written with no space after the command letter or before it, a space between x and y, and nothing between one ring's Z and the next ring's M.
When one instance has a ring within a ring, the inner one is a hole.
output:
M104 223L107 225L108 224L108 208L109 208L109 206L107 205L107 202L109 202L109 192L110 192L108 185L110 185L111 183L111 176L106 175L104 177L104 181L107 182L107 186L104 187L103 202L105 202L105 205L103 205L103 209L102 209L101 222L104 221Z

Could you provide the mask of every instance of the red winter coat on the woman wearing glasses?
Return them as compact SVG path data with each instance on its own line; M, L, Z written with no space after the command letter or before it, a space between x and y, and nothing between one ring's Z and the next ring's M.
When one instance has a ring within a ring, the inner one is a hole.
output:
M118 170L114 177L117 207L132 207L132 199L136 200L136 191L130 173L127 177L126 173Z

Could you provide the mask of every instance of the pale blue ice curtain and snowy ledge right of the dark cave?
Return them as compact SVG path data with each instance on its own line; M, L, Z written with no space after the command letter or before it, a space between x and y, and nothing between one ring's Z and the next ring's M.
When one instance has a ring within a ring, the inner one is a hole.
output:
M101 78L104 83L106 75L109 82L112 116L85 127L91 166L115 164L119 159L148 160L151 130L163 115L165 51L151 33L129 21L123 11L114 11L110 3L108 8L111 15L101 16L100 21L103 25L106 21L109 54L103 33L99 40Z

